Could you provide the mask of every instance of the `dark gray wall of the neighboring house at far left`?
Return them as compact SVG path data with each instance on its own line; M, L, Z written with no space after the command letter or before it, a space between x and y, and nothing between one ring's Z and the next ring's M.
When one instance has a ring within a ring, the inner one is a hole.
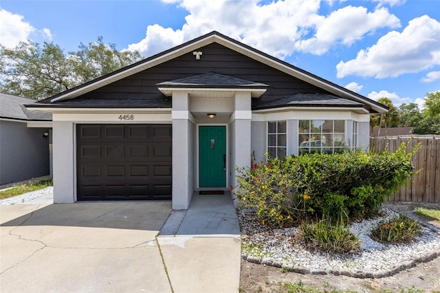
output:
M28 128L26 122L0 120L0 184L50 174L45 131L45 128Z

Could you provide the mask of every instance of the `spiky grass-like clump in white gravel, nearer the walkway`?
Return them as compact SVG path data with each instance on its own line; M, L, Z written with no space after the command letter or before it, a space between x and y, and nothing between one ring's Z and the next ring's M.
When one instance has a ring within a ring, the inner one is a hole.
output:
M345 254L360 249L359 237L347 230L342 217L337 223L323 218L317 223L300 226L305 246L311 250Z

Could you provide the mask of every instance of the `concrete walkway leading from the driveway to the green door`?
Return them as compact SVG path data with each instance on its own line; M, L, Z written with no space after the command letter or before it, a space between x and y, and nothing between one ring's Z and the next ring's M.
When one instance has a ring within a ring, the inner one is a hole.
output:
M174 292L238 292L240 229L230 194L195 193L188 211L173 211L159 232Z

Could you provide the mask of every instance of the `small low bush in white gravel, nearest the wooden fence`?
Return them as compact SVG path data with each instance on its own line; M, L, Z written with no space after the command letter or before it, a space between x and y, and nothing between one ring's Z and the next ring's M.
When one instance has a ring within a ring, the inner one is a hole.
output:
M377 228L371 231L371 238L382 243L408 243L419 233L417 221L401 215L389 221L381 221Z

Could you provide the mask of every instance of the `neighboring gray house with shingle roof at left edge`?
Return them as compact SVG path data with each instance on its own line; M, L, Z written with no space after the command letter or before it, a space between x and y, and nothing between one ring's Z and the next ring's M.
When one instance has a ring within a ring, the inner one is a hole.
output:
M24 107L34 102L0 93L0 185L50 175L52 115Z

